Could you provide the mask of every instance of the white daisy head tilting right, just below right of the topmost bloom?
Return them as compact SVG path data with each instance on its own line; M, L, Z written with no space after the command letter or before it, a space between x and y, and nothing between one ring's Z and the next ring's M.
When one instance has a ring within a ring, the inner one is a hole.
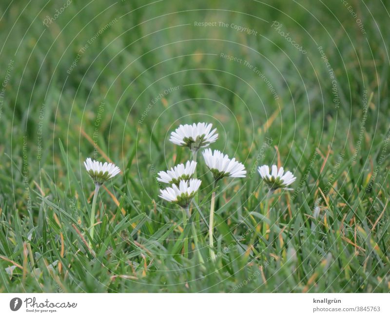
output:
M213 153L210 148L207 148L202 154L207 167L213 172L215 180L220 180L225 176L245 177L247 173L242 163L237 162L235 158L230 159L227 155L224 156L217 149Z

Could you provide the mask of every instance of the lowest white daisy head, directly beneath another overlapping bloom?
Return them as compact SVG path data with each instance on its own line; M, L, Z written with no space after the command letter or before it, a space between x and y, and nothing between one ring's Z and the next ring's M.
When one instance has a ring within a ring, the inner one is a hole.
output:
M185 208L195 196L201 182L200 179L194 178L190 180L181 180L178 187L176 184L172 184L172 187L160 190L161 194L158 197Z

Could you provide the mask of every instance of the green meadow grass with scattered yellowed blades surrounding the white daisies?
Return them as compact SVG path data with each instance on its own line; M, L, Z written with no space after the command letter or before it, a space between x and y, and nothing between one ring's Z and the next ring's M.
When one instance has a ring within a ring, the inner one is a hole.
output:
M388 2L349 2L2 1L0 292L389 292ZM201 155L203 262L158 198L193 122L248 170L219 183L215 261ZM91 248L87 157L121 169ZM293 191L266 199L263 164Z

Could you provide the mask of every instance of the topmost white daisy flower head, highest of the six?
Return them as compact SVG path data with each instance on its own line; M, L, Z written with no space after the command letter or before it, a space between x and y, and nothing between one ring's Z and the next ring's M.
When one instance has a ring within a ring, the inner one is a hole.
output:
M171 141L182 147L189 147L192 151L197 151L199 148L208 147L218 138L216 128L211 130L212 124L198 123L191 125L180 125L174 132L171 133Z

